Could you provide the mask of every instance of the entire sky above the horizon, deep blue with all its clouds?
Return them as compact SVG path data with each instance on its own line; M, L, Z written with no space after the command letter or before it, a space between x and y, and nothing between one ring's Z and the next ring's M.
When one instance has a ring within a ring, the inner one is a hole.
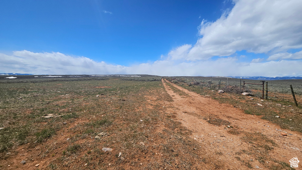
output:
M300 76L301 8L300 0L2 1L0 72Z

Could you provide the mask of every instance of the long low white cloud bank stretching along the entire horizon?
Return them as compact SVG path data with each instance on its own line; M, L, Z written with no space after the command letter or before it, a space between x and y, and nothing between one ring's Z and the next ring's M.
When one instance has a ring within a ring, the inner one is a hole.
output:
M260 61L261 59L259 59ZM96 62L86 57L69 56L59 52L34 53L14 51L13 55L0 53L0 72L33 74L151 74L161 76L287 76L302 75L302 61L281 60L262 63L238 62L237 57L217 60L180 62L160 60L133 66Z

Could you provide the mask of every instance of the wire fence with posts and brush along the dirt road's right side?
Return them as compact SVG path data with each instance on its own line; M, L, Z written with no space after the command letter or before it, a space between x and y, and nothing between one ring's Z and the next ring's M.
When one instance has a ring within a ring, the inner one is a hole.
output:
M186 83L187 85L198 85L201 87L208 87L212 90L223 89L226 86L236 87L236 92L243 92L243 88L250 90L252 95L262 98L262 85L253 85L245 83L262 84L263 80L249 80L249 79L235 79L229 77L172 77L174 81L178 83ZM291 80L267 80L268 82L268 98L274 100L286 100L294 102L291 94L290 85L292 85L294 94L299 105L302 105L302 79ZM265 86L265 85L264 85ZM264 88L265 90L265 88ZM264 91L265 95L265 91Z

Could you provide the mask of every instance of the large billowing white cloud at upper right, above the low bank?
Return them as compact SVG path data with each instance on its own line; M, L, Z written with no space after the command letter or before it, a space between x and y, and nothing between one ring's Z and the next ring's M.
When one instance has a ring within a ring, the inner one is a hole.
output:
M194 61L230 56L241 50L278 53L302 47L301 0L233 2L233 9L223 13L217 21L201 22L199 34L202 37L187 54L179 57Z

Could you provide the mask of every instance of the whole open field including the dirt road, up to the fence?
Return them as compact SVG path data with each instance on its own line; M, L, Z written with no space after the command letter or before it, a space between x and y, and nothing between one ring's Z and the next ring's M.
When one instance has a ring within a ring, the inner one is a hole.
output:
M301 107L166 79L1 79L0 169L293 169L302 158Z

